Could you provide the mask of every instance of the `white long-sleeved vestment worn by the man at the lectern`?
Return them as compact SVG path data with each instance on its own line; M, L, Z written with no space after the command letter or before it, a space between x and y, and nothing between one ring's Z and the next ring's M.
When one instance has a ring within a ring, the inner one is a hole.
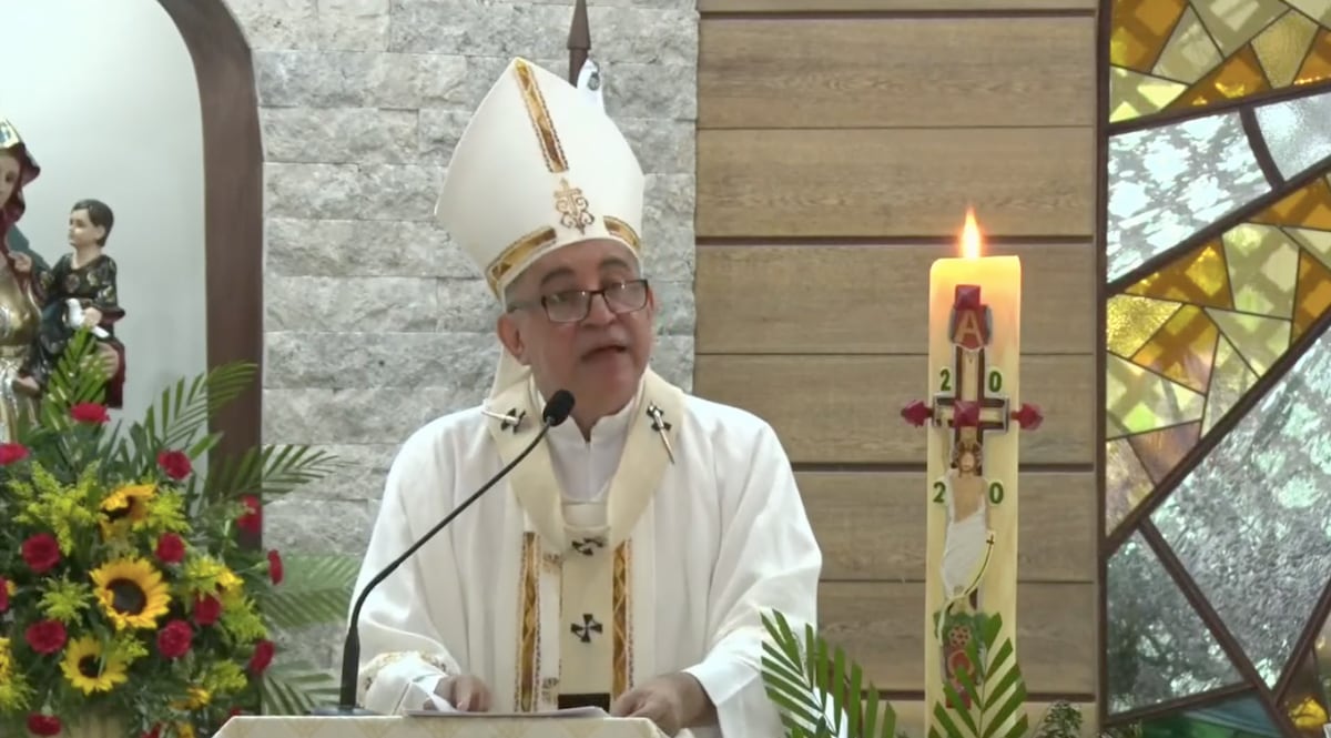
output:
M407 440L358 593L535 437L542 405L519 382ZM483 409L524 416L515 432ZM383 714L419 709L439 675L471 674L490 687L491 710L538 711L560 694L614 701L687 671L720 730L693 735L780 735L760 614L780 610L797 631L813 623L820 569L772 428L648 370L590 441L572 421L554 428L375 589L359 623L358 698Z

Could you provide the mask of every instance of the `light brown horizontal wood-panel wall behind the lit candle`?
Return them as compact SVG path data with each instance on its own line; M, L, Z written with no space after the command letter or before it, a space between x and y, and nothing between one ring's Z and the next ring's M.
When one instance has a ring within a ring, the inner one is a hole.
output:
M1094 705L1091 0L700 0L695 390L780 433L825 552L821 622L922 697L929 262L974 206L1025 266L1018 649ZM914 714L918 714L916 710ZM1089 710L1094 722L1094 710Z

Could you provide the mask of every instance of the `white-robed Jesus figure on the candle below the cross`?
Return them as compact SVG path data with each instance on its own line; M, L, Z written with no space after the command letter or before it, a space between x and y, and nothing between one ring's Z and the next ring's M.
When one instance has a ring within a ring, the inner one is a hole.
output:
M984 446L962 436L952 446L948 482L948 530L942 549L942 586L948 599L961 595L984 567L989 548L989 502L985 497ZM980 607L978 589L969 605Z

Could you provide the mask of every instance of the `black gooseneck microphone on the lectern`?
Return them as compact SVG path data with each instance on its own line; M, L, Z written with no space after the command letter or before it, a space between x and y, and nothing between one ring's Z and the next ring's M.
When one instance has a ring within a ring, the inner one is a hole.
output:
M415 544L411 544L411 548L402 552L402 555L389 562L389 565L385 566L378 574L375 574L373 579L366 582L365 589L361 590L361 595L357 597L355 605L351 607L351 617L350 621L347 622L347 629L346 629L346 642L342 645L342 679L341 679L341 690L338 693L338 705L334 707L327 707L327 706L315 707L314 710L310 711L310 714L313 715L378 714L371 710L365 710L355 706L355 682L357 677L359 675L358 673L361 663L361 634L358 623L361 621L361 607L365 606L365 601L370 595L370 591L373 591L374 587L378 586L383 579L387 579L389 575L398 569L398 566L402 566L409 558L411 558L411 554L419 550L421 546L426 545L430 541L430 538L434 538L441 530L447 528L454 518L457 518L459 514L462 514L463 510L470 508L471 504L479 500L482 494L488 492L490 488L495 486L499 482L499 480L508 476L508 473L512 472L515 466L518 466L518 462L526 458L527 454L530 454L532 449L536 448L536 444L539 444L540 440L546 437L546 433L548 433L551 428L568 420L568 414L572 413L572 410L574 410L572 393L566 389L560 389L559 392L556 392L550 398L550 401L546 402L546 408L540 412L540 433L536 433L536 437L531 440L531 444L527 444L527 448L523 449L516 458L510 461L507 466L504 466L503 469L499 470L498 474L491 477L488 482L486 482L480 489L475 492L475 494L466 498L462 502L462 505L458 505L434 528L427 530L426 534L421 537L421 540L418 540Z

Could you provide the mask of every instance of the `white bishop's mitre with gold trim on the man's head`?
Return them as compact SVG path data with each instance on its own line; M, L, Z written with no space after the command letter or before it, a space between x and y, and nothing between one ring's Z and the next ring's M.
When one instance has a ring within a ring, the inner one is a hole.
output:
M642 260L646 177L586 91L514 59L458 140L435 218L495 297L542 256L611 238ZM530 369L500 346L491 397Z

